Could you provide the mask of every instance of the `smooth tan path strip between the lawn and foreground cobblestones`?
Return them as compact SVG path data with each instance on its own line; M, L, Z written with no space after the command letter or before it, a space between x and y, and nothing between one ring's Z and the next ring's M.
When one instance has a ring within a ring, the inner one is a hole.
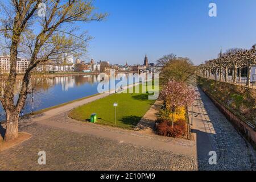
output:
M67 113L63 113L49 119L40 120L36 123L76 133L86 133L97 137L104 137L121 143L130 143L137 146L155 148L156 150L169 151L174 154L192 158L196 155L195 142L191 142L189 140L164 138L155 134L142 134L138 131L79 122L68 118ZM154 142L152 142L152 140L154 140ZM189 148L194 148L194 150Z

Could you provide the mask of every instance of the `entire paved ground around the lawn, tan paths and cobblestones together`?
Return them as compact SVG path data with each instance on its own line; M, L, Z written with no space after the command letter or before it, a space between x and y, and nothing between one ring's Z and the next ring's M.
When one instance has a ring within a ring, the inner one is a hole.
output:
M74 107L109 96L100 94L21 119L20 131L32 138L0 152L0 169L256 170L250 144L200 89L196 92L194 140L160 137L148 132L150 128L124 130L68 117ZM145 114L148 122L154 122L157 108L154 105ZM46 151L46 165L38 164L39 151ZM209 151L216 151L217 165L208 163Z

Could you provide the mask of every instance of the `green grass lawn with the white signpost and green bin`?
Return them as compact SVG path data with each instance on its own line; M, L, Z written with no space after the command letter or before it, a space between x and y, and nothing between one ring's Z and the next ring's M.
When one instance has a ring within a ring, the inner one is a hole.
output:
M114 102L117 106L117 123L114 121ZM81 121L89 121L92 113L97 114L97 123L133 129L155 100L148 100L148 94L117 93L84 106L77 107L69 116Z

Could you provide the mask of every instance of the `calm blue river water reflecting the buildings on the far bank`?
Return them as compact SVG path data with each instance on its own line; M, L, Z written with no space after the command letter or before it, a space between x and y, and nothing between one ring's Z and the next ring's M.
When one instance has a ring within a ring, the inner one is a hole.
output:
M120 77L127 79L126 74L121 74L115 77L115 82ZM97 94L97 87L101 78L98 75L80 75L41 77L34 78L32 81L35 82L34 85L36 86L34 86L34 91L28 94L23 114ZM17 84L16 90L19 89L18 85L20 84ZM15 100L17 98L18 94L15 95ZM5 119L5 112L0 104L0 121L3 119Z

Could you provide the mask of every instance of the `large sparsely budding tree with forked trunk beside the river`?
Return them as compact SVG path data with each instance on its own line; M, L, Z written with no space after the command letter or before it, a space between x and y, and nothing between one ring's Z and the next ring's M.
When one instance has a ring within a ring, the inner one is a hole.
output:
M42 4L43 3L43 4ZM36 11L43 8L43 16ZM79 33L76 23L100 21L106 14L94 13L89 0L12 0L2 5L1 38L10 53L10 73L3 85L0 101L6 113L5 140L18 137L18 119L30 85L31 71L48 60L61 60L64 53L74 55L86 51L88 36ZM18 101L14 102L16 64L19 55L30 55Z

